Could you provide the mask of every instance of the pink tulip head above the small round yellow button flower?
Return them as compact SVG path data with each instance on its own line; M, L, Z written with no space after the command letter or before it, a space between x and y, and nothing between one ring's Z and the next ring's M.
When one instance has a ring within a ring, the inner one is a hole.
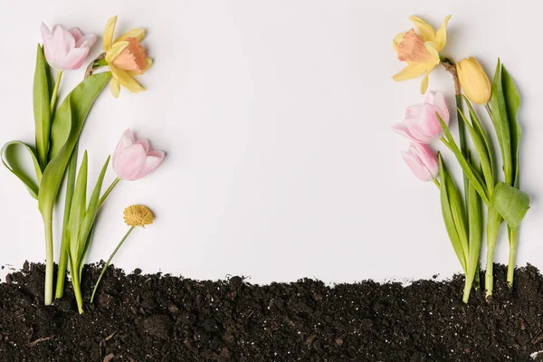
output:
M164 157L164 152L151 149L147 138L136 139L134 133L127 129L113 154L113 169L119 178L138 180L153 172Z

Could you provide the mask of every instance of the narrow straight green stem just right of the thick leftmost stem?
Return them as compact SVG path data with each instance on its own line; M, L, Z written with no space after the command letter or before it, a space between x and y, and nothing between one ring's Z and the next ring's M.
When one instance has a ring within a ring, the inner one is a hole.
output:
M77 168L77 145L73 149L70 158L70 166L68 167L68 181L66 183L66 200L64 203L64 220L62 222L62 243L61 255L59 258L59 270L57 272L55 299L61 299L64 294L64 281L66 280L66 268L68 266L68 223L71 211L71 199L75 187L75 173Z

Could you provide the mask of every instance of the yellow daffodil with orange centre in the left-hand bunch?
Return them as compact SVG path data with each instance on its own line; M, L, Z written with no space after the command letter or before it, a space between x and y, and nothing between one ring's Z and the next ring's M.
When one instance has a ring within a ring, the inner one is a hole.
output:
M104 32L103 49L106 52L105 60L113 74L110 83L111 94L118 98L120 86L132 93L145 90L134 77L147 71L153 60L147 58L145 48L140 43L145 37L145 30L132 29L129 33L113 40L116 24L117 16L108 20Z

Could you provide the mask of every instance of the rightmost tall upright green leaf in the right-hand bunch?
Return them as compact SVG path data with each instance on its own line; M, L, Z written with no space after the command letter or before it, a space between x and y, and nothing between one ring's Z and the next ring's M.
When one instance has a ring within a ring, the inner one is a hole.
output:
M503 66L501 67L501 82L503 84L503 98L505 100L510 128L511 163L513 168L511 185L519 188L519 143L522 134L519 122L517 121L517 113L520 106L519 90L517 90L509 72Z

